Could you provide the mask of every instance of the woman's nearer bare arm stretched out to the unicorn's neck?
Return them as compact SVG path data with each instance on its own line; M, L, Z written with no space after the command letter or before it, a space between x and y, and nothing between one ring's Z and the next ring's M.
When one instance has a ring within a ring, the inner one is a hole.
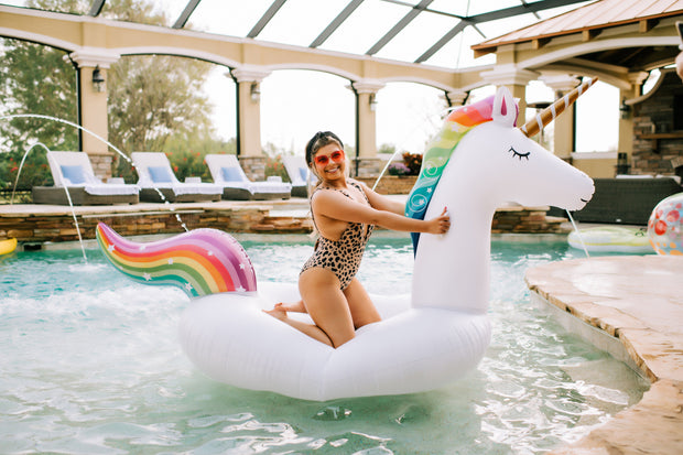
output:
M451 227L451 217L443 213L432 219L408 218L390 210L377 208L353 201L339 192L318 192L312 201L313 210L330 220L378 225L387 229L406 232L445 234ZM319 221L318 221L319 223Z

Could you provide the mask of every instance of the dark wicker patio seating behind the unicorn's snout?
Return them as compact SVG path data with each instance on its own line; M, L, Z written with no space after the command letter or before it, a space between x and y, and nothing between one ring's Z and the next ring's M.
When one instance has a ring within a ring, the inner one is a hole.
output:
M595 178L595 193L574 218L587 223L647 225L652 209L664 197L683 191L674 177L629 175Z

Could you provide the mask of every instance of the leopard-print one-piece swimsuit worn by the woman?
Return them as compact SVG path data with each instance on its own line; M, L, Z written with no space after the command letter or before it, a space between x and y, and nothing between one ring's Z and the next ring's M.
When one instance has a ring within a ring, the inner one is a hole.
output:
M360 187L360 184L355 181L348 181L348 183L358 188L366 201L368 201L368 196ZM322 186L318 186L313 194L318 189L338 191L346 197L351 198L345 189ZM313 199L313 195L311 195L311 199ZM311 213L313 213L313 210L311 210ZM315 225L315 217L313 217L313 224ZM329 240L321 235L313 256L306 261L303 269L301 269L301 273L314 267L329 270L339 279L339 288L344 291L358 272L362 253L373 228L373 225L367 225L366 230L366 225L362 223L349 223L348 227L342 232L339 240Z

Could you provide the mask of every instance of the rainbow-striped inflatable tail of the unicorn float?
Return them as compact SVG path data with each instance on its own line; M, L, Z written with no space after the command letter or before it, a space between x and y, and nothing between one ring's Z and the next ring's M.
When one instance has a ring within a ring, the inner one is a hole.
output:
M99 223L97 242L113 267L144 284L175 285L191 297L257 290L247 252L232 236L217 229L138 243Z

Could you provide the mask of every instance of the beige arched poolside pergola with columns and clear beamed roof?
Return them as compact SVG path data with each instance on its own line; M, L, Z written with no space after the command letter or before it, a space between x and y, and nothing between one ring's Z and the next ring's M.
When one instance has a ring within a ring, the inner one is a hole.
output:
M474 88L506 85L524 109L531 80L543 80L560 95L582 76L598 76L619 87L622 98L632 98L648 71L673 62L679 45L673 24L683 18L680 2L662 0L500 0L471 6L445 0L263 0L249 2L256 6L249 18L230 20L242 11L212 0L166 0L154 3L172 17L171 23L150 25L120 20L107 0L94 0L87 11L3 3L0 36L69 53L80 73L82 122L105 138L107 93L90 84L96 69L95 75L106 79L111 63L142 54L227 66L238 87L238 149L245 158L261 154L260 105L251 95L278 69L316 69L347 78L356 96L358 156L371 158L377 152L372 104L387 83L436 87L452 106L463 104ZM372 13L376 17L367 17ZM291 36L273 42L271 31L293 17L299 20L291 24ZM372 26L358 26L364 17ZM520 29L523 24L529 26ZM408 39L414 46L401 54L398 50ZM458 42L471 45L477 55L494 53L495 64L458 67ZM629 126L621 127L619 148L628 150ZM571 116L564 116L555 131L555 152L571 152ZM83 147L90 154L108 154L99 141L84 138Z

